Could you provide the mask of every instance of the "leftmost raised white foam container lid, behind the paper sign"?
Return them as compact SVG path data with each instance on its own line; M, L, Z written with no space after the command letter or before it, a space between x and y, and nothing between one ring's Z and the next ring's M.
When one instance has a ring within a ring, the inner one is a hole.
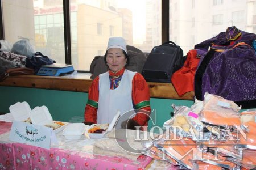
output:
M26 101L17 102L9 107L11 116L13 116L15 121L25 121L30 117L30 105Z

